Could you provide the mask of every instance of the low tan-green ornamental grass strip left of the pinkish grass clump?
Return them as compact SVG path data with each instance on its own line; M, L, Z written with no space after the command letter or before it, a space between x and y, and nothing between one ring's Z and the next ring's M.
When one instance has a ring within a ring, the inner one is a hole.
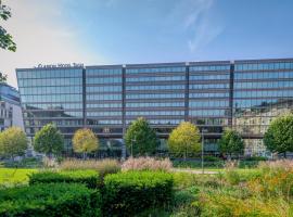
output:
M65 159L61 163L60 168L63 170L81 170L93 169L97 170L101 178L107 174L117 174L120 171L120 165L116 159Z

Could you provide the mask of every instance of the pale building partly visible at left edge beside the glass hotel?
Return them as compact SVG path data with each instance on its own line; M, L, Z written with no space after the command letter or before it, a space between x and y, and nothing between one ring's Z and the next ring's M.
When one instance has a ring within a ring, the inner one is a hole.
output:
M15 88L0 82L0 130L12 126L24 129L20 93Z

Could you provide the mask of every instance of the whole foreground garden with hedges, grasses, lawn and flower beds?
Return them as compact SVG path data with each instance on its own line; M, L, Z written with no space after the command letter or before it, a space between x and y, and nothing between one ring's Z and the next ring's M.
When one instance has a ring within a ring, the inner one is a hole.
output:
M293 162L174 168L168 158L0 168L0 216L293 216Z

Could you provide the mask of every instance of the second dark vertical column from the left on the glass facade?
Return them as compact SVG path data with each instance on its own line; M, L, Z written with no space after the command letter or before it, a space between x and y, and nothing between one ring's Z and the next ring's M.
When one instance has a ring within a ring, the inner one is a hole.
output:
M123 122L123 138L126 132L126 119L125 119L125 107L126 107L126 66L122 68L122 122ZM126 144L123 142L122 158L126 158Z

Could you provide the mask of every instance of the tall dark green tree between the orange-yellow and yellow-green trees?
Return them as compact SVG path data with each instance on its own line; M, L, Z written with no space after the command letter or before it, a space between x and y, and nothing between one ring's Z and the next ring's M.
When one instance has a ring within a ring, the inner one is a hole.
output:
M153 154L160 143L155 130L143 117L139 117L128 127L124 139L127 149L135 156Z

